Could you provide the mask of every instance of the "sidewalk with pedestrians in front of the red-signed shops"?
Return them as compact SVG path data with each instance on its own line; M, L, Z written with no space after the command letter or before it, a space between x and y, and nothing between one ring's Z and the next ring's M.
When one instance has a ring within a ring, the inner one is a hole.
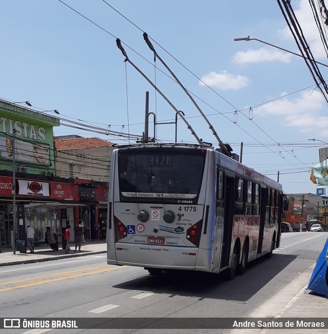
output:
M107 252L107 243L104 240L101 241L92 241L87 240L86 243L83 243L81 246L81 252L74 252L75 243L71 242L70 244L71 251L69 254L65 254L65 250L61 249L61 244L59 244L59 250L53 252L50 249L49 245L36 245L34 248L34 253L30 253L29 248L27 247L27 253L19 253L16 251L16 254L13 254L14 250L11 247L2 247L0 248L0 267L7 265L23 264L23 263L34 263L34 262L44 262L52 260L60 260L64 258L72 258L77 256L85 255L94 255ZM78 248L77 248L78 249Z

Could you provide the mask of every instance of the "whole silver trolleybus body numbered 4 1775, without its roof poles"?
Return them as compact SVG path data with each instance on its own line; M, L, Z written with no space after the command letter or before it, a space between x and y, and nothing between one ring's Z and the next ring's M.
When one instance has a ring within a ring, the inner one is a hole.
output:
M282 187L210 145L113 151L107 263L232 279L280 243Z

